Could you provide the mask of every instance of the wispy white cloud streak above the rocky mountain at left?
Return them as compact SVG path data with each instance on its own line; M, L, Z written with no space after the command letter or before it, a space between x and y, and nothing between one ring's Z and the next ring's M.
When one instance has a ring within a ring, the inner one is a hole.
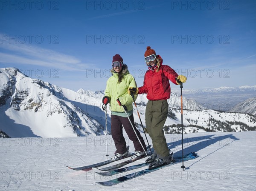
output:
M7 35L5 35L6 37ZM2 39L1 35L1 63L18 63L35 66L47 66L68 71L85 71L93 64L82 63L76 57L62 54L38 46L20 43L9 43L9 40ZM7 50L8 53L4 53Z

